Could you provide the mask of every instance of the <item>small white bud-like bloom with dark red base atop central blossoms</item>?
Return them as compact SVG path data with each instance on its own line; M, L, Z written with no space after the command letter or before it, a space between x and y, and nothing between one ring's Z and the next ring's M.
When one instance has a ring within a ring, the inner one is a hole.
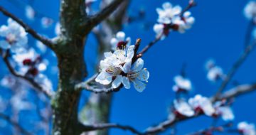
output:
M131 44L131 38L125 38L125 33L119 31L116 36L111 39L110 43L112 45L112 50L124 49Z

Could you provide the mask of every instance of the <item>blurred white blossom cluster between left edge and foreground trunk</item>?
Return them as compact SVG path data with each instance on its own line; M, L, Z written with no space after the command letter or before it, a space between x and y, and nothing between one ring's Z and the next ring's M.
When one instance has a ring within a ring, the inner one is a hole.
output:
M0 27L0 48L11 50L11 57L14 60L18 73L31 77L46 90L52 90L50 80L41 72L45 71L48 65L33 48L26 49L28 37L25 29L11 18L8 24Z

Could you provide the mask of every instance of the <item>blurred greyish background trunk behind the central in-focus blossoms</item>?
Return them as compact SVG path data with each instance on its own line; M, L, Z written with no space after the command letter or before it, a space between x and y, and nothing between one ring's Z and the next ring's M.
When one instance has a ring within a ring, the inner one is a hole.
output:
M104 0L101 4L101 9L105 8L113 0ZM122 29L122 23L124 20L125 13L129 1L126 0L122 5L119 6L116 12L112 14L105 21L102 21L101 28L99 31L95 31L95 36L98 42L98 61L102 59L102 54L110 51L110 40L111 38ZM88 124L108 123L110 118L110 110L112 103L112 94L95 94L90 95L90 99L85 104L85 107L80 112L81 121ZM85 133L86 134L86 133ZM108 130L91 131L87 134L93 135L107 135Z

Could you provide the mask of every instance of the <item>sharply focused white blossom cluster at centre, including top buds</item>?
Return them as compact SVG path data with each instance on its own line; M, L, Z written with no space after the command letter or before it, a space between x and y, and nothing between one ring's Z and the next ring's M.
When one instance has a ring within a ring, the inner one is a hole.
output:
M133 62L134 45L123 43L125 34L117 33L117 39L111 43L117 45L114 53L105 53L105 59L100 61L100 74L95 79L102 85L110 85L112 89L123 85L126 89L130 88L130 82L133 83L138 92L143 92L149 79L149 71L144 67L144 60L138 58Z

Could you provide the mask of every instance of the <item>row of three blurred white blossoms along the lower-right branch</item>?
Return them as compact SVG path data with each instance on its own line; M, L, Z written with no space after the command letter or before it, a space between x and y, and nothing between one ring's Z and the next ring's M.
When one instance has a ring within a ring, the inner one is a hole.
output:
M225 101L215 102L214 104L208 97L196 95L188 99L174 100L174 112L176 117L193 117L197 114L206 114L208 117L222 117L225 121L232 121L235 116L232 109Z

